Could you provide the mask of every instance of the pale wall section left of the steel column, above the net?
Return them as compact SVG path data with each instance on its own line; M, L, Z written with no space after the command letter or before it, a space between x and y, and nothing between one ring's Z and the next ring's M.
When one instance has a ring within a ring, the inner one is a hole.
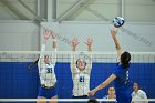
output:
M31 21L0 21L0 51L37 51L39 34Z

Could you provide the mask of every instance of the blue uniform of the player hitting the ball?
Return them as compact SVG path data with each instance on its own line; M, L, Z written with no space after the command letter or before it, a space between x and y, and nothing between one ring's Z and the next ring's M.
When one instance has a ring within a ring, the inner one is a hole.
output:
M117 65L113 74L116 75L114 85L117 103L131 103L132 97L128 93L128 87L131 86L128 81L128 69L123 69L122 65Z

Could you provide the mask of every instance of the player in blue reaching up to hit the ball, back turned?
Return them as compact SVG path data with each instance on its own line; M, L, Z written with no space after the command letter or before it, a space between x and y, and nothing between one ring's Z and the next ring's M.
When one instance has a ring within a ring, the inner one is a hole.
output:
M99 90L104 89L112 81L114 81L117 103L131 103L132 97L128 93L128 87L131 86L131 83L128 81L131 54L128 52L122 53L121 45L116 39L117 31L118 29L116 28L111 29L111 34L117 50L120 62L116 65L115 71L112 73L112 75L108 79L106 79L103 83L101 83L97 87L90 91L89 94L94 95Z

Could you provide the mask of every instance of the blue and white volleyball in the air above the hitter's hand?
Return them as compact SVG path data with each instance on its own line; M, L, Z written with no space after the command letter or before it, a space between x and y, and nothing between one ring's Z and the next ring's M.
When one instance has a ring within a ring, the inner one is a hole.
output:
M122 27L124 24L124 22L125 22L125 20L122 17L115 17L113 19L113 24L114 24L115 28Z

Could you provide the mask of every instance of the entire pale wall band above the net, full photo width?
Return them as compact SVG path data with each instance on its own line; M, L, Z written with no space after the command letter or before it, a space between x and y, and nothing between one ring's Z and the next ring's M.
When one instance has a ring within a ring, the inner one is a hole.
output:
M42 22L41 24L59 35L58 47L60 51L70 51L72 49L71 40L73 37L76 37L80 41L78 47L80 51L86 50L84 41L87 37L94 40L94 51L115 51L110 35L111 25L107 23L62 22L54 24ZM136 37L120 30L118 40L123 50L155 52L155 23L125 23L124 28L132 31ZM43 41L43 35L39 32L39 25L31 21L0 21L0 51L38 51ZM148 43L146 44L144 40L141 40L142 38L147 39ZM48 50L52 48L51 41L52 39L48 44ZM152 44L149 45L149 43Z

